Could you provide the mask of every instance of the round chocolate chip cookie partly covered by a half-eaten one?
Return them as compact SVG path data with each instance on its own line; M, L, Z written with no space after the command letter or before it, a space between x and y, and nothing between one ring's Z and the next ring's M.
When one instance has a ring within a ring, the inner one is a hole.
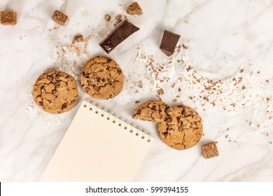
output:
M195 146L203 133L198 113L187 106L172 107L172 122L158 124L160 139L169 147L185 150Z

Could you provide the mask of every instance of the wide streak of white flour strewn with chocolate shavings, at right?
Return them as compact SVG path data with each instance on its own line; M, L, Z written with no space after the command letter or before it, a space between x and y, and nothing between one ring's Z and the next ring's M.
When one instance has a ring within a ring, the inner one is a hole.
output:
M136 55L133 60L139 62L140 66L146 67L146 80L152 84L152 92L162 89L176 97L173 102L183 104L193 102L196 107L204 111L217 107L228 117L235 116L240 109L246 107L253 109L254 116L260 109L265 109L265 120L256 122L253 119L249 127L244 127L252 136L273 126L273 97L272 94L270 97L266 96L268 90L273 92L272 85L269 86L273 78L260 71L258 73L247 71L251 64L242 66L233 77L210 80L193 69L185 45L183 52L179 45L172 57L161 59L161 62L156 62L155 58L142 52L142 47L141 45L135 47ZM178 68L181 69L179 72Z

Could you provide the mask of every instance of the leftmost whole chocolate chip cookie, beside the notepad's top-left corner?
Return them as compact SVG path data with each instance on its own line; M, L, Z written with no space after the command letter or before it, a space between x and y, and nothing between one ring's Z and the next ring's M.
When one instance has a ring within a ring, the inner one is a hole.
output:
M34 102L48 113L64 113L78 101L78 87L72 76L62 71L48 71L38 77L33 87Z

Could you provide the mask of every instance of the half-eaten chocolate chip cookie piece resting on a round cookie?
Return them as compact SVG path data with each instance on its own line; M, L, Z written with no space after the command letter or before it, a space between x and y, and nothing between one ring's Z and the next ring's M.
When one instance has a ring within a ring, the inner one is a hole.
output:
M132 118L148 120L153 123L171 123L172 118L170 117L170 113L171 109L164 102L151 101L137 106L137 108L134 109Z

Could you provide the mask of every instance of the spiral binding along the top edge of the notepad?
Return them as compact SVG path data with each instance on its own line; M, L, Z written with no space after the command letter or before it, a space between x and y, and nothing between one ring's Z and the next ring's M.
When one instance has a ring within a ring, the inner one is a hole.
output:
M123 127L125 130L129 130L130 133L133 133L137 137L140 137L141 139L146 139L148 142L151 142L152 134L148 134L146 130L141 131L141 127L136 127L134 124L130 124L128 120L125 121L125 118L118 118L118 114L114 115L112 111L107 112L107 109L102 109L102 105L97 105L95 102L92 102L90 99L85 99L85 102L83 106L90 111L94 111L94 113L99 114L102 117L106 117L107 120L111 120L112 123L118 123L117 125L120 127Z

